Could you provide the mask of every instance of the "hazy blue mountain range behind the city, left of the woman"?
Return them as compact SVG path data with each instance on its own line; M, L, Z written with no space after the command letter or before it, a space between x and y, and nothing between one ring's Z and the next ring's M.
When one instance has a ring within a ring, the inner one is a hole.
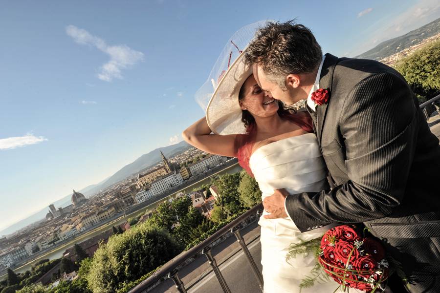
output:
M89 185L86 188L83 188L81 190L76 190L76 191L83 193L86 197L91 196L94 193L96 193L97 191L99 191L101 189L108 188L108 187L112 186L113 184L127 178L128 176L130 176L134 173L138 173L138 172L141 172L142 170L153 167L155 164L157 164L161 161L160 151L162 151L163 154L167 157L173 157L176 154L179 154L179 153L181 153L191 147L192 146L190 146L186 142L182 141L176 145L156 148L146 154L143 154L142 156L137 158L132 163L122 167L120 170L118 170L116 173L111 175L109 178L106 178L97 184ZM60 207L64 208L64 207L68 206L71 204L71 200L70 200L71 196L72 196L72 193L55 201L53 203L53 205L57 209ZM20 230L20 229L26 227L27 225L30 225L34 222L37 222L37 221L44 219L48 210L49 210L48 207L41 209L40 211L26 217L25 219L22 219L21 221L18 221L15 224L13 224L7 228L0 230L0 235L7 235L10 233L13 233L17 230Z

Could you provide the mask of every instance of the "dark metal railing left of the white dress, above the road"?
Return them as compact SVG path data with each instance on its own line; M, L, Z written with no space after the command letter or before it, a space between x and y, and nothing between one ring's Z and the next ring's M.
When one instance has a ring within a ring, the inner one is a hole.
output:
M252 258L252 255L250 251L247 248L247 245L240 233L240 227L239 225L246 219L248 219L252 215L259 215L261 211L263 210L263 205L259 204L252 209L247 210L244 212L241 216L230 222L229 224L222 227L220 230L216 231L214 234L200 242L198 245L192 247L188 251L185 251L179 255L177 255L173 260L166 263L163 267L161 267L157 272L154 272L153 275L151 275L148 279L142 281L140 284L132 288L129 293L144 293L147 292L147 290L155 285L160 279L162 279L165 276L168 276L168 278L171 278L174 283L176 284L176 288L178 292L180 293L186 293L185 284L180 279L177 267L182 264L183 262L187 261L188 259L192 258L194 255L196 255L198 252L201 252L204 254L211 265L217 279L219 280L221 289L224 293L231 293L229 290L228 285L226 284L225 279L223 278L223 275L220 272L220 268L217 264L216 259L211 253L211 244L219 239L221 236L225 235L228 232L233 233L237 241L239 242L242 251L244 252L244 255L246 256L252 272L254 273L258 285L260 286L260 289L263 292L263 275L258 269L254 259Z

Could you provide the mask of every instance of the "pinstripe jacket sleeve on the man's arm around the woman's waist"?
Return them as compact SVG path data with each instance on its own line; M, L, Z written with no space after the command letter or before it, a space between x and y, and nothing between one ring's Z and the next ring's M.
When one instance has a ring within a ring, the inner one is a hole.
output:
M392 72L373 74L351 90L338 123L350 180L330 191L288 195L286 211L299 230L383 218L401 204L417 140L413 97Z

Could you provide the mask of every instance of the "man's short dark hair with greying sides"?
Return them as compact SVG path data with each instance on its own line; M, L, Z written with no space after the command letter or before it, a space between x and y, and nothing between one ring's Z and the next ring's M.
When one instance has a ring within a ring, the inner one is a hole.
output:
M286 76L313 72L322 50L312 32L295 21L268 22L250 42L244 61L258 63L270 79L285 89Z

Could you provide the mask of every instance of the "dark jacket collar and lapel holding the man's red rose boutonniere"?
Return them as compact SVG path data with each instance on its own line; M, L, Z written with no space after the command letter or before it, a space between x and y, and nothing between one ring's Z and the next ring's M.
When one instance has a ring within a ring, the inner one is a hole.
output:
M321 69L321 77L319 79L319 88L327 88L329 90L329 101L324 105L316 106L316 120L317 120L317 133L318 142L321 146L322 140L322 128L324 126L324 120L326 119L327 114L327 106L330 103L331 99L331 84L333 81L333 71L334 67L338 63L338 58L329 53L326 54L326 59L324 60L324 64Z

